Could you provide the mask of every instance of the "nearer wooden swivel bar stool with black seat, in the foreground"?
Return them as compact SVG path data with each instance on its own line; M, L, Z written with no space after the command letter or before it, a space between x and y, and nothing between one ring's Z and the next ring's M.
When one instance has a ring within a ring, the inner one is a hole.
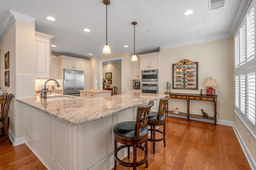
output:
M114 127L114 136L115 136L115 166L116 164L133 167L136 170L136 166L140 166L146 162L146 167L148 167L148 116L150 113L151 107L154 105L153 101L150 101L148 105L139 106L137 109L136 121L126 121L118 123ZM117 147L117 142L122 145ZM141 145L145 142L144 147ZM130 158L130 146L133 146L133 162L124 162L120 160L117 156L117 152L122 148L128 149L128 159ZM140 148L144 151L144 158L137 162L137 148Z

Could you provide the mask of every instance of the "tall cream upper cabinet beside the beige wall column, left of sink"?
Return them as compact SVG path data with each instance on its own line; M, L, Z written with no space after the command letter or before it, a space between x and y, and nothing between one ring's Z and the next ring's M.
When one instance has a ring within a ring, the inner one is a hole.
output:
M51 58L51 39L49 36L40 32L35 32L36 40L36 78L48 78Z

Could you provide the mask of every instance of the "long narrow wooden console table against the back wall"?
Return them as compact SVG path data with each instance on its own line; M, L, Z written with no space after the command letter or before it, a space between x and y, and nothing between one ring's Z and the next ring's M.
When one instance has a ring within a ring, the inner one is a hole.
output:
M203 119L214 120L214 124L216 126L216 114L217 114L217 95L207 96L207 95L197 95L197 94L184 94L184 93L171 93L170 98L172 99L186 99L187 100L187 113L173 113L173 111L168 111L168 113L176 114L176 115L187 115L187 120L189 121L189 117L198 117ZM199 101L212 101L214 102L214 117L203 117L201 115L193 115L189 113L190 100L199 100Z

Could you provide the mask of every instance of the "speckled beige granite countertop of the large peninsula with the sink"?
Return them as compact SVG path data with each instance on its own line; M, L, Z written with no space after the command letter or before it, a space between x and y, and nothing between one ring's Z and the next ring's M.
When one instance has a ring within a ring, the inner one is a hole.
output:
M56 94L56 97L61 98L61 96L63 96L62 99L56 100L50 96L48 99L37 96L28 99L16 99L16 101L77 126L132 107L148 104L150 100L160 99L168 95L126 93L108 97L87 98ZM155 105L159 105L159 103L155 103Z

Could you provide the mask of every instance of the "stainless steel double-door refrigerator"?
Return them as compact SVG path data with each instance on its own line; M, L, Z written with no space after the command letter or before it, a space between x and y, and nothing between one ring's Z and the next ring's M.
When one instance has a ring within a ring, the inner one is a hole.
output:
M80 96L79 90L84 90L84 71L64 69L64 94Z

